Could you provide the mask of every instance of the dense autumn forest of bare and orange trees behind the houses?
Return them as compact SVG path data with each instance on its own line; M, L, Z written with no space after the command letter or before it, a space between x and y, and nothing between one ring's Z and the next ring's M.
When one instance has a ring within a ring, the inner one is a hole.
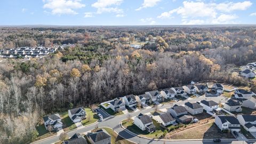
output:
M126 94L190 81L255 85L230 73L256 61L253 26L0 29L0 49L75 44L42 59L0 58L0 133L12 135L6 143L33 141L39 117ZM145 44L134 49L135 41Z

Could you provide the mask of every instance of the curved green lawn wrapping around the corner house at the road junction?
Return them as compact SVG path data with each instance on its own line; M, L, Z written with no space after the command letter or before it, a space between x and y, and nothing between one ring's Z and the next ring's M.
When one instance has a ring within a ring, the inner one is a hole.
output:
M156 131L153 133L148 133L147 131L142 131L139 127L137 127L135 124L133 124L132 119L130 119L130 120L125 119L124 121L122 121L122 125L126 129L128 129L129 131L131 131L135 134L140 134L140 135L143 135L144 137L153 138L153 139L161 137L164 133L163 132L164 129L154 119L153 119L153 124L156 126Z

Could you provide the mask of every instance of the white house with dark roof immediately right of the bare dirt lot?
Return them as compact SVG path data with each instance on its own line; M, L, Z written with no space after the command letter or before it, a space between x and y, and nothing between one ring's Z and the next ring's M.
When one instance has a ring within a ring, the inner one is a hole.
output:
M230 130L237 131L241 130L240 123L235 116L215 116L215 124L221 131Z

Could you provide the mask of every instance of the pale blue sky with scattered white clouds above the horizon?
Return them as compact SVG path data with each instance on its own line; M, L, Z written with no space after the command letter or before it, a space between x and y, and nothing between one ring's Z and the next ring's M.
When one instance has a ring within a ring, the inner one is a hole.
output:
M0 19L0 25L256 24L256 2L1 0Z

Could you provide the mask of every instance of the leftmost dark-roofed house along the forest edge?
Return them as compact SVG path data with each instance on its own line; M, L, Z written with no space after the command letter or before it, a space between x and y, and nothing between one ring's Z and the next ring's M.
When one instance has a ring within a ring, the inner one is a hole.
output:
M46 130L49 125L52 125L53 129L55 130L62 129L62 122L59 114L45 116L43 117L43 119L44 119L44 126Z

